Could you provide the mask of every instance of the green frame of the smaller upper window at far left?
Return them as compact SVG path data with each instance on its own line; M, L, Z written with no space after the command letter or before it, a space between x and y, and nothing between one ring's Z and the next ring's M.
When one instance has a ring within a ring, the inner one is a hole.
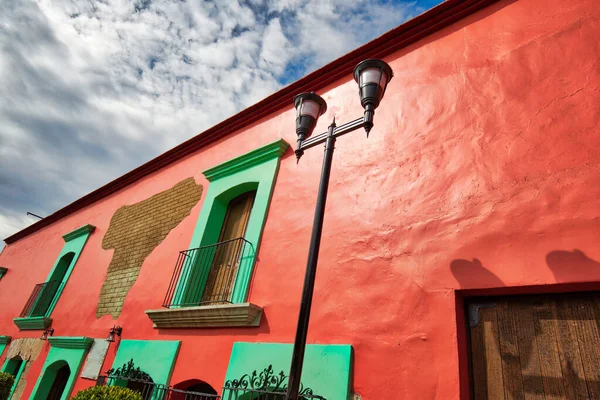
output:
M50 326L52 323L50 315L52 315L52 311L54 311L54 307L62 295L83 247L95 229L95 226L88 224L63 235L65 244L44 282L46 285L37 293L32 293L35 298L31 299L32 303L28 315L13 319L19 329L39 330Z

